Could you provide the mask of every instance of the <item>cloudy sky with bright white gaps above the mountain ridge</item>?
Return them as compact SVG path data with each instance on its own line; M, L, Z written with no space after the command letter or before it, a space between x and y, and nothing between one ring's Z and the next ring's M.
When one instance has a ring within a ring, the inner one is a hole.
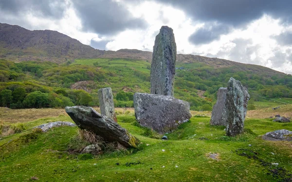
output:
M292 74L292 0L0 0L0 23L55 30L99 50L152 51L161 26L177 52Z

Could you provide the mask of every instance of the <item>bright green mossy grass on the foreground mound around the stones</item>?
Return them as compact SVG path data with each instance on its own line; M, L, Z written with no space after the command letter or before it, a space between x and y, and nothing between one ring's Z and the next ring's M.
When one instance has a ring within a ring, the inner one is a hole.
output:
M269 170L279 168L261 165L261 161L279 163L287 174L292 171L291 143L263 141L258 136L278 129L292 130L292 123L247 119L246 133L232 138L224 136L223 127L210 126L210 118L192 117L177 131L167 134L169 140L162 141L144 136L143 128L130 123L132 116L118 119L126 120L119 124L140 139L140 150L94 158L70 154L68 145L77 127L54 128L37 136L30 135L33 126L53 120L71 121L69 117L24 123L25 132L0 140L1 181L29 181L33 176L44 182L276 182L283 179L268 175ZM241 151L252 153L249 150L256 152L257 158L238 155ZM209 152L219 153L219 160L207 157ZM136 165L127 166L127 163Z

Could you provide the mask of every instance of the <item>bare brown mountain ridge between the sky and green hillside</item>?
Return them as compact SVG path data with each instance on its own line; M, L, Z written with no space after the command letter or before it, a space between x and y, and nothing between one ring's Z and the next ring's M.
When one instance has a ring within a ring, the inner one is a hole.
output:
M38 60L62 63L78 58L123 58L151 62L152 52L128 49L117 51L96 50L56 31L30 31L17 25L0 23L0 59L15 62ZM285 73L264 66L191 54L178 54L177 63L198 63L214 68L233 67L237 71L265 72L269 76L285 75Z

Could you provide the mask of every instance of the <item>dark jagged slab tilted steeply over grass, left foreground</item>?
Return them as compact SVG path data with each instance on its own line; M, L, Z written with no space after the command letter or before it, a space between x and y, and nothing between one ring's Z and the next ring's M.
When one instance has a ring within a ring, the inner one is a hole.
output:
M108 142L117 141L127 148L137 147L138 140L134 136L110 117L97 113L93 108L73 106L66 107L65 110L79 128L92 131Z

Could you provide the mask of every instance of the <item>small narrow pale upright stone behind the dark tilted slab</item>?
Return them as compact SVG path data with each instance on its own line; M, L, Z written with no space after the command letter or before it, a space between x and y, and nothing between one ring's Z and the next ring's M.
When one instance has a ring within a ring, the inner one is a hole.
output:
M112 118L115 122L118 122L114 112L113 96L110 87L102 88L98 90L99 108L102 115Z

